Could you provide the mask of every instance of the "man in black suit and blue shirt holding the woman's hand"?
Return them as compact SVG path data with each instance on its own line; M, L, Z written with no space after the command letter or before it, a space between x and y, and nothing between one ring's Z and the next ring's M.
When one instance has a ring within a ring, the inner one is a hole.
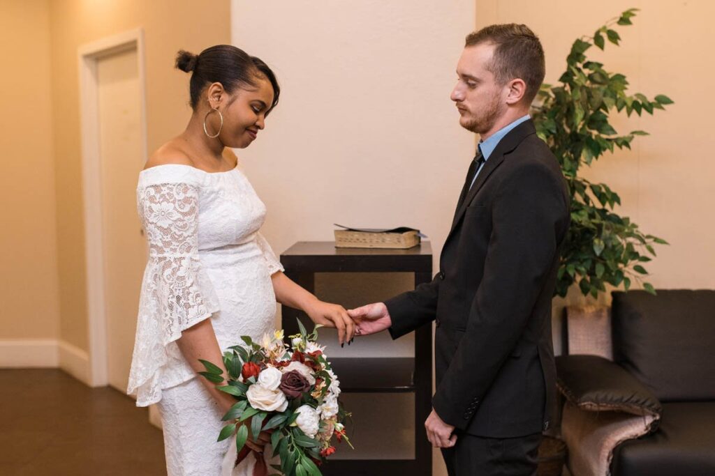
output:
M551 298L569 223L561 168L529 106L544 77L525 25L467 36L451 94L478 133L440 255L440 273L385 303L350 310L360 335L393 339L435 321L436 392L425 422L450 476L536 475L556 370Z

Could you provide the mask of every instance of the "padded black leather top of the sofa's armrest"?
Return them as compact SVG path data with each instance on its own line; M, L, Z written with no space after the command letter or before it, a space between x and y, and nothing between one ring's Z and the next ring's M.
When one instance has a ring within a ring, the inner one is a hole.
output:
M658 398L633 375L598 355L560 355L556 385L566 400L583 410L651 415L660 420Z

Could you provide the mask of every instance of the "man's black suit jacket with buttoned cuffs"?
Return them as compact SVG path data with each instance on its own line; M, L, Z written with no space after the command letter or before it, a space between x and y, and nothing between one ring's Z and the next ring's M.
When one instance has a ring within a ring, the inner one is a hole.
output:
M561 168L523 122L458 206L440 273L385 302L393 339L436 320L433 407L459 430L516 437L548 427L551 298L569 217Z

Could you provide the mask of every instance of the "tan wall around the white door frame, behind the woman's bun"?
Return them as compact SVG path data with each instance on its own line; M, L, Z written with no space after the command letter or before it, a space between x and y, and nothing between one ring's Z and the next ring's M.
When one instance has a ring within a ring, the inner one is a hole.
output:
M190 115L188 76L174 69L178 49L198 53L230 42L228 0L63 0L51 2L56 228L61 338L87 350L84 204L77 48L143 28L149 151L180 133ZM132 224L134 226L134 224Z

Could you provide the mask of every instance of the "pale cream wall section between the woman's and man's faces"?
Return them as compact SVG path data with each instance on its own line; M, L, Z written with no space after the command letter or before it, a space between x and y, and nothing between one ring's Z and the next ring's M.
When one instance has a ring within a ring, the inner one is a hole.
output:
M430 237L436 265L474 153L449 99L473 1L233 6L234 44L282 85L265 131L238 151L275 250L332 240L333 223L405 225Z

